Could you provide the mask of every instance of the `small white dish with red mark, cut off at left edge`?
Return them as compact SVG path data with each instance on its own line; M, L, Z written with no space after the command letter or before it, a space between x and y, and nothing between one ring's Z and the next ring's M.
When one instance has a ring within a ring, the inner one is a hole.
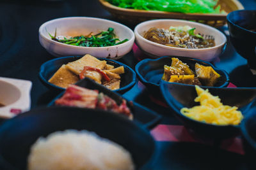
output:
M0 77L0 118L12 118L31 106L31 81Z

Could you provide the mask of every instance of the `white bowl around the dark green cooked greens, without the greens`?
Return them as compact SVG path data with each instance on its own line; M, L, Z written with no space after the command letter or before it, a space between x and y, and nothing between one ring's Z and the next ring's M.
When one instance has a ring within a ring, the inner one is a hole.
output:
M109 27L113 27L120 41L125 38L129 39L129 41L115 46L84 47L59 43L53 41L49 36L49 33L54 36L55 29L57 29L57 36L81 36L90 34L90 32L97 34L100 31L108 30ZM131 51L134 43L134 33L129 27L111 20L92 17L67 17L50 20L42 24L39 28L39 41L47 52L55 57L89 53L94 57L117 59Z

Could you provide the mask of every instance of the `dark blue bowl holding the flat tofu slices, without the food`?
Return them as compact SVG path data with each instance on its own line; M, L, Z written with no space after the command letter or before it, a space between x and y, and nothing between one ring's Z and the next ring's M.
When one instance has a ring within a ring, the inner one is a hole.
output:
M65 90L62 87L58 87L52 83L49 83L48 80L53 76L54 73L63 65L67 64L68 62L72 62L74 60L81 59L79 56L70 56L70 57L60 57L57 59L52 59L40 67L39 72L39 78L42 81L42 83L49 87L50 89L54 90ZM124 74L120 74L121 76L121 83L120 83L120 89L113 90L115 92L118 92L120 94L124 94L128 90L130 90L136 83L136 73L131 69L131 67L126 66L125 64L122 64L122 62L118 62L116 60L111 59L105 59L100 58L99 60L106 60L108 64L111 64L115 67L124 66Z

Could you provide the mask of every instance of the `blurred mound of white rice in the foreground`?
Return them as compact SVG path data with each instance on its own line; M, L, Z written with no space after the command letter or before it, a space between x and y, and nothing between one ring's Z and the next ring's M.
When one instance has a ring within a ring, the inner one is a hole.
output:
M39 138L31 147L29 170L133 170L129 152L93 132L67 130Z

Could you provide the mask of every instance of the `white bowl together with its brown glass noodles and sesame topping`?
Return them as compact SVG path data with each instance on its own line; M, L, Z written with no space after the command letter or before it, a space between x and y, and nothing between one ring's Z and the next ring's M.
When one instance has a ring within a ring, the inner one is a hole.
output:
M134 29L136 45L150 57L164 55L211 61L225 49L227 38L211 27L185 20L150 20Z

